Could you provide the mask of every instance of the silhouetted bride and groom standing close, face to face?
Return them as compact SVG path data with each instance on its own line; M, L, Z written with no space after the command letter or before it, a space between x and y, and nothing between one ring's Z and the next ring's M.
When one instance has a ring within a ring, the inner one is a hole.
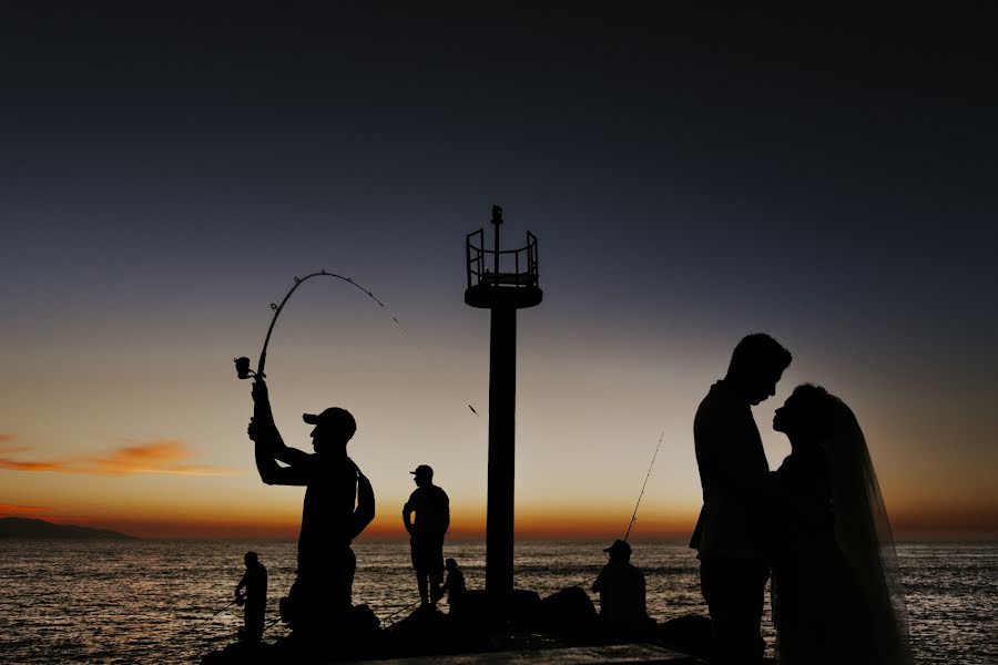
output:
M823 388L797 387L773 419L792 452L770 471L752 407L792 356L742 339L696 411L703 509L691 548L713 632L712 662L762 663L766 582L782 665L912 662L894 541L863 431Z

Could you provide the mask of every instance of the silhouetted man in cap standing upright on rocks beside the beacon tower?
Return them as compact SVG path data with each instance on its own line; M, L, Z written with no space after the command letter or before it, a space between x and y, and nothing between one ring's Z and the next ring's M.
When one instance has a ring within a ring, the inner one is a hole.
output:
M418 487L403 508L403 522L410 536L419 600L428 607L440 597L444 582L444 536L450 526L450 499L434 484L434 470L427 464L419 464L409 473Z

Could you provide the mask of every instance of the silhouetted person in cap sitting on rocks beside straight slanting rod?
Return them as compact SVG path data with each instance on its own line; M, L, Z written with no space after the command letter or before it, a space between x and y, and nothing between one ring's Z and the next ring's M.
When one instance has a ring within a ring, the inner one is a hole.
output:
M644 575L631 564L631 545L615 540L603 552L610 561L592 584L600 594L600 618L615 634L646 631L654 621L648 616Z

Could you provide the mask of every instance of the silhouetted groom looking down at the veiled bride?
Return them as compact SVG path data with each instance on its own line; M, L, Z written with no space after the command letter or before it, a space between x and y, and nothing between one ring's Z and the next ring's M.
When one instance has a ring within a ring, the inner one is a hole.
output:
M690 546L711 614L713 662L761 663L760 632L770 577L770 466L752 407L776 392L793 357L768 335L742 339L727 374L711 387L693 421L703 508Z

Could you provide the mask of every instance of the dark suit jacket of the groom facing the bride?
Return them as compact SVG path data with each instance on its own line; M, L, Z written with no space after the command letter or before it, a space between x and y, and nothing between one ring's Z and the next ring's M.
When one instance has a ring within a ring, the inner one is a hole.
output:
M703 508L690 546L697 557L767 561L772 540L770 464L752 408L724 381L693 421Z

